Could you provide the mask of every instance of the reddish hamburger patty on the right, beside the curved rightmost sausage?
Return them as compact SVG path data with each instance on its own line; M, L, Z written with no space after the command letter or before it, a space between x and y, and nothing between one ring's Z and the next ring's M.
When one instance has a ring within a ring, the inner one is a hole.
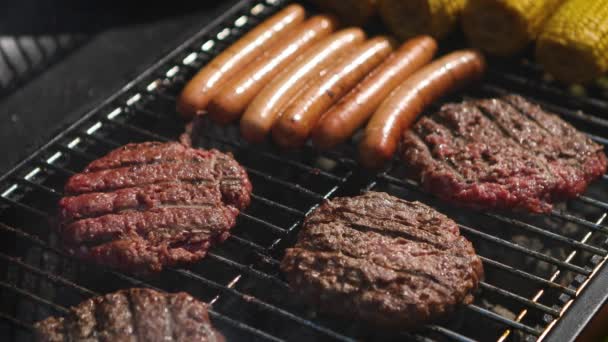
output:
M602 146L516 95L444 105L404 134L402 158L446 201L535 213L606 172Z

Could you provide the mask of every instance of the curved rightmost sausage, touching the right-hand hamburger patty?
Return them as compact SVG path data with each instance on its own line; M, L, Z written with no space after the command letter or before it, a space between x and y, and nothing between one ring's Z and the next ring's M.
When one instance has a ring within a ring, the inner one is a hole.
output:
M485 70L483 56L473 50L445 55L418 70L382 102L365 128L359 145L364 166L378 168L390 160L401 133L424 107L444 93L478 79Z

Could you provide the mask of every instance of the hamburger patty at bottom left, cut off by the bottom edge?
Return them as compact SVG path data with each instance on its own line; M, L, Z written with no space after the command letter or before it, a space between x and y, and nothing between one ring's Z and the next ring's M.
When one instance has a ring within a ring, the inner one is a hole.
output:
M35 325L38 341L209 341L224 337L209 321L207 304L187 293L134 288L86 300L66 317Z

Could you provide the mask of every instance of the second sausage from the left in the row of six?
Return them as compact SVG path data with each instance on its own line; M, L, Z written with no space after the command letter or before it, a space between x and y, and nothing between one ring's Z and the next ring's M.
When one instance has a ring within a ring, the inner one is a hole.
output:
M334 19L319 15L308 19L275 42L211 98L208 108L211 118L222 124L238 119L260 89L306 48L329 35L335 27Z

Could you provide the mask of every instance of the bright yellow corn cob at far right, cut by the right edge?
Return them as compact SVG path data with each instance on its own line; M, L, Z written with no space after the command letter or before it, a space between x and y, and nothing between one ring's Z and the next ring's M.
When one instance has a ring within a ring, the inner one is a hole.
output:
M536 56L563 82L585 83L608 71L608 1L566 1L543 28Z

